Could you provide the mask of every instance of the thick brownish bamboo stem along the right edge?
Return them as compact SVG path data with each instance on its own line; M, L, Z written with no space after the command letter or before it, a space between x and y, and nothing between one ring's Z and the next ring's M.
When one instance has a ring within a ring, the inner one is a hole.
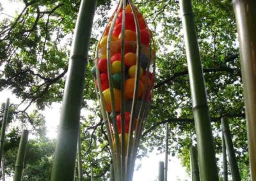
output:
M256 180L256 1L234 0L241 57L250 173Z

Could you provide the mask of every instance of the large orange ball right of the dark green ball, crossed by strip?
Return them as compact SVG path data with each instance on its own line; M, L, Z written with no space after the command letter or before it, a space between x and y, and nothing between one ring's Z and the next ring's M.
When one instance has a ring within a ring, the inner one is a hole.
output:
M133 98L133 93L134 93L134 85L135 85L135 79L134 78L129 78L125 81L125 97L132 99ZM139 80L138 83L138 97L141 96L143 93L143 83Z

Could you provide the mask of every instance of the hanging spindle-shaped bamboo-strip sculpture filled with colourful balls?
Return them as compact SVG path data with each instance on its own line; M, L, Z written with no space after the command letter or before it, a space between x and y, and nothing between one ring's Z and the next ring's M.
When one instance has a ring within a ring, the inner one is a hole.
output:
M97 45L95 88L115 180L132 180L155 82L152 32L132 1L120 0Z

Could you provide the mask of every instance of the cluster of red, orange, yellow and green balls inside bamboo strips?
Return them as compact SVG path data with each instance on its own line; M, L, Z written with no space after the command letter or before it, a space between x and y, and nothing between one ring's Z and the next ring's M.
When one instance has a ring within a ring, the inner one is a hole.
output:
M127 139L127 134L129 133L129 126L131 120L131 105L132 99L134 98L134 86L136 85L136 72L138 71L138 101L135 105L136 109L140 109L140 102L145 100L150 102L152 99L152 87L154 85L154 74L148 69L150 68L150 62L154 59L151 52L150 54L150 39L152 34L147 27L147 24L142 17L141 13L136 7L135 13L132 13L131 6L128 4L125 8L125 12L120 10L118 16L113 25L113 18L109 22L104 35L102 36L99 47L97 49L97 60L96 66L99 69L99 81L101 85L101 91L104 101L104 108L109 113L113 115L115 112L115 119L111 117L112 120L116 120L116 125L118 127L118 134L121 133L121 80L122 80L122 55L121 55L121 40L122 40L122 18L125 13L125 30L124 30L124 95L125 95L125 142ZM140 31L140 41L141 41L141 55L140 55L140 67L138 67L138 55L136 54L136 24L134 21L134 15L138 18L139 31ZM109 30L111 25L113 25L113 32L110 34ZM111 36L110 43L110 62L107 59L107 44ZM108 64L110 65L108 68ZM96 76L96 67L92 69L93 76L95 77L95 84L99 88ZM111 89L109 80L112 82L113 88L113 101L115 108L112 108L111 104ZM100 91L100 89L99 89ZM134 117L138 116L138 111L134 112ZM135 127L132 127L134 131ZM120 138L121 139L121 138ZM115 144L115 142L113 143ZM126 143L125 143L126 144Z

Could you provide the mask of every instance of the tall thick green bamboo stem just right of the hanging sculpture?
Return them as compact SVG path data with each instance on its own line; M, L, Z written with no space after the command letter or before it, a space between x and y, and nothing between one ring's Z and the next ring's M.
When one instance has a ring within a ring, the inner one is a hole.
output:
M182 13L189 82L193 100L193 115L198 142L200 178L201 180L215 181L218 180L218 170L191 1L180 0L180 10Z

